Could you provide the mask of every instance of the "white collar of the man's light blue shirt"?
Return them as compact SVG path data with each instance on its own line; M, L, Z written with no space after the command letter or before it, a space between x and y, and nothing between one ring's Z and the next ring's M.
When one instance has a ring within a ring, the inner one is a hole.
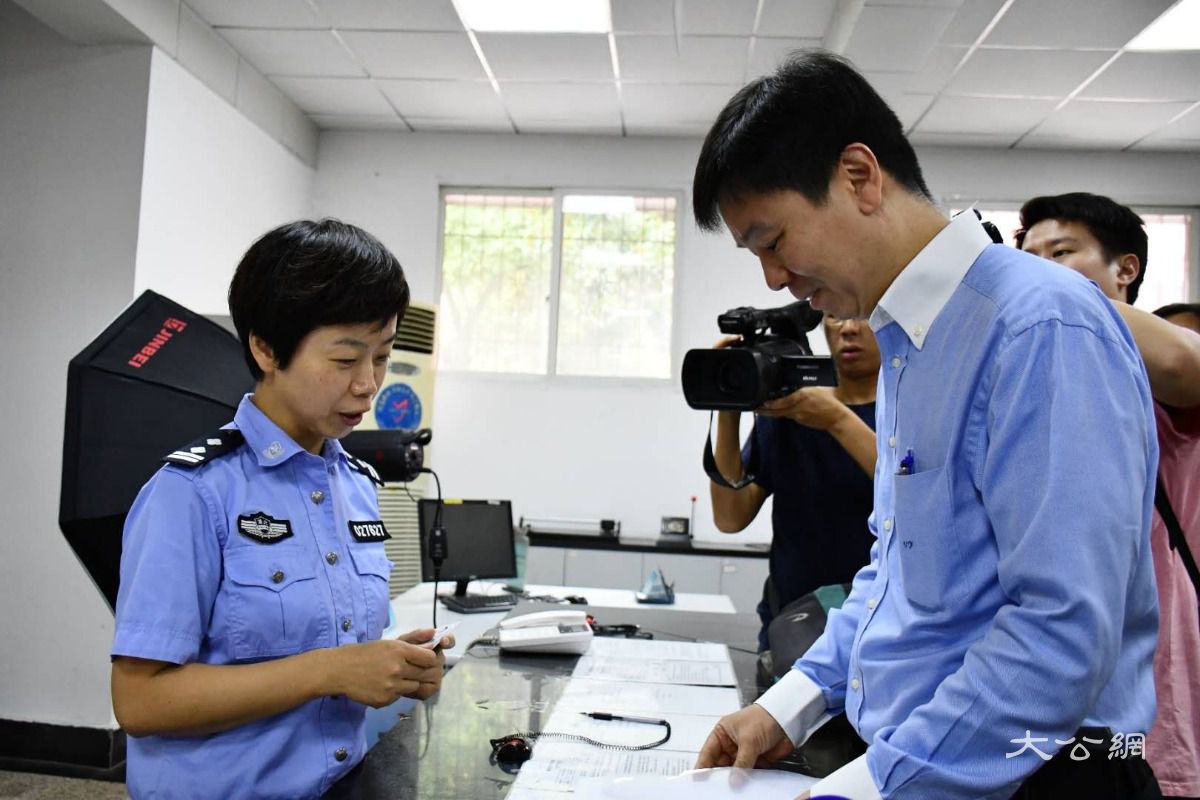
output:
M895 321L919 350L962 276L990 243L991 237L973 209L950 219L880 297L869 320L871 330L878 332Z

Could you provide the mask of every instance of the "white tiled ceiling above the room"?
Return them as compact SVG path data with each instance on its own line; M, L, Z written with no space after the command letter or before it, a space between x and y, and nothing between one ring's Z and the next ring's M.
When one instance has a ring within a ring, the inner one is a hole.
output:
M1200 151L1200 53L1123 49L1171 0L610 0L608 35L474 32L454 0L184 2L188 37L210 25L326 128L702 136L826 46L916 142Z

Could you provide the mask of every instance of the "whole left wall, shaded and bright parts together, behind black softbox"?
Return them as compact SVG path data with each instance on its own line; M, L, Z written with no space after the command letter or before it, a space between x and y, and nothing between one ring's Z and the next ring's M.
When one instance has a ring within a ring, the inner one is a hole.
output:
M112 728L112 612L58 529L67 362L144 288L226 313L313 172L161 50L77 48L8 0L0 109L0 718Z

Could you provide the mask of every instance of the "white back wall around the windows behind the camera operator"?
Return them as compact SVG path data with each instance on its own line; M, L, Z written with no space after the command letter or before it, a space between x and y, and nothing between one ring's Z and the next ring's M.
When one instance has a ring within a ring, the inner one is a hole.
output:
M404 264L414 296L436 302L439 186L682 191L678 374L686 349L715 338L719 312L788 300L762 285L755 261L726 235L696 230L686 190L698 150L697 140L684 139L326 132L314 203L318 213L380 236ZM1088 190L1134 204L1200 204L1194 155L950 148L919 155L947 203ZM659 517L686 513L695 494L697 536L719 539L700 467L706 421L685 405L677 380L443 373L433 413L436 467L452 497L511 498L515 513L533 517L616 517L628 533L656 531ZM767 519L764 510L738 539L766 541Z

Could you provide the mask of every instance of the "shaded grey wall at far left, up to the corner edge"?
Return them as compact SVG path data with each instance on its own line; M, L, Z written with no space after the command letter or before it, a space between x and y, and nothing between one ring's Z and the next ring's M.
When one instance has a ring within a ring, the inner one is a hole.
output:
M0 718L110 727L113 615L59 533L67 362L133 291L150 48L0 0Z

